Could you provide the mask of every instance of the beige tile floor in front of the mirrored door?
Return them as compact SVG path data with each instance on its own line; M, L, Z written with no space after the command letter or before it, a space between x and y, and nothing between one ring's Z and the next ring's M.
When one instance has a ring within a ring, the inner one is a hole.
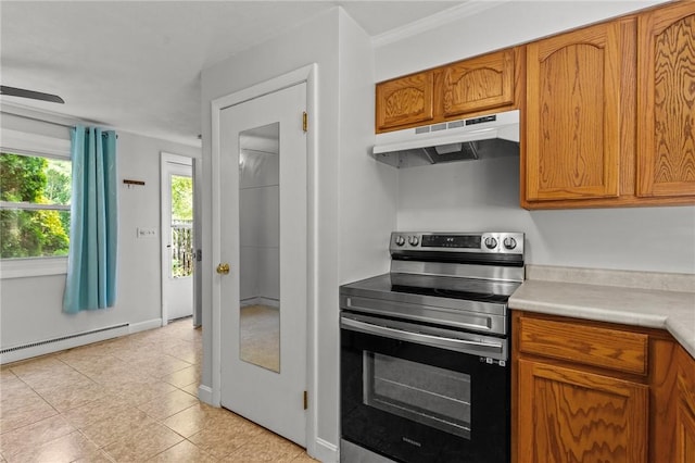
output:
M197 399L190 320L0 368L0 462L313 462Z

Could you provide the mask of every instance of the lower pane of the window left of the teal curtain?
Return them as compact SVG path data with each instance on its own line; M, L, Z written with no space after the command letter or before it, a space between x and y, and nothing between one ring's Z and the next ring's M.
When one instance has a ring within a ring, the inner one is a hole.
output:
M2 259L67 255L68 211L0 210Z

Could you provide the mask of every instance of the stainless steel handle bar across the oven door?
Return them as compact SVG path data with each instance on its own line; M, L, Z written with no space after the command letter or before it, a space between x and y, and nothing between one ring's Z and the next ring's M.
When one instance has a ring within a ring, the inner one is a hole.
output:
M476 355L496 354L494 355L495 359L506 360L505 346L502 341L490 342L428 335L425 333L413 333L399 328L391 328L389 326L375 325L368 322L361 322L345 315L340 317L340 326L353 331L362 331L370 335L378 335L391 339L410 341L463 353Z

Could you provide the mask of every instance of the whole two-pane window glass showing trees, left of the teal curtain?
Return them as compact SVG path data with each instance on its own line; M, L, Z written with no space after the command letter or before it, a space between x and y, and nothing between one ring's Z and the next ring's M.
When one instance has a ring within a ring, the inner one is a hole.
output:
M0 258L65 256L70 248L71 162L0 153Z

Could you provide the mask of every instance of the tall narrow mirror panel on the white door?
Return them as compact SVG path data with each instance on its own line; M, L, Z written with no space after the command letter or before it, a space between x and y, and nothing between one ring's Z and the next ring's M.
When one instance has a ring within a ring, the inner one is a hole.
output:
M280 372L280 124L239 134L240 333L244 362Z

